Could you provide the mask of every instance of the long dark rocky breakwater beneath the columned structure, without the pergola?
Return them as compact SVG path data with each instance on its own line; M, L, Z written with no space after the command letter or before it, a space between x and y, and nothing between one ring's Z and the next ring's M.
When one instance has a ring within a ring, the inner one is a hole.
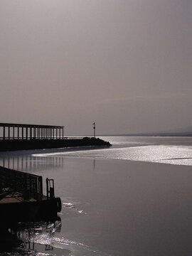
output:
M71 146L111 146L111 144L94 137L84 137L82 139L10 139L0 141L0 151L55 149Z

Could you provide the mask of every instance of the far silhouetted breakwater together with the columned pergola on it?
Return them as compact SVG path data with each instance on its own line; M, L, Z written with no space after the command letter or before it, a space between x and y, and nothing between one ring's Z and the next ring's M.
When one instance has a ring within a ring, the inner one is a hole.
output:
M95 137L64 137L64 126L0 123L0 151L110 146Z

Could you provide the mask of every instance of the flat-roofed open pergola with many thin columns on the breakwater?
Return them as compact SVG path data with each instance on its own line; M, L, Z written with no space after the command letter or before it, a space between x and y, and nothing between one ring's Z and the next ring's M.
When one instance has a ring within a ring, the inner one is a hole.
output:
M64 126L0 123L1 139L64 139Z

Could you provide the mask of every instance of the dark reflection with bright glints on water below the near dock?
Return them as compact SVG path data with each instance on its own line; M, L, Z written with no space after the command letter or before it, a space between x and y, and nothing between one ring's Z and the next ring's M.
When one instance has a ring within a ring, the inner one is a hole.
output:
M106 255L82 242L75 242L60 235L61 221L54 223L18 223L11 228L1 229L0 256L31 255Z

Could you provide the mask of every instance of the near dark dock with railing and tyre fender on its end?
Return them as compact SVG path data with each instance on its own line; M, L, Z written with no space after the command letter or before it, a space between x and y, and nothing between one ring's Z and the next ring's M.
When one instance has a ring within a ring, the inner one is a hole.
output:
M42 176L0 166L1 225L23 221L53 220L61 210L60 198L55 198L54 181L46 178L43 195Z

